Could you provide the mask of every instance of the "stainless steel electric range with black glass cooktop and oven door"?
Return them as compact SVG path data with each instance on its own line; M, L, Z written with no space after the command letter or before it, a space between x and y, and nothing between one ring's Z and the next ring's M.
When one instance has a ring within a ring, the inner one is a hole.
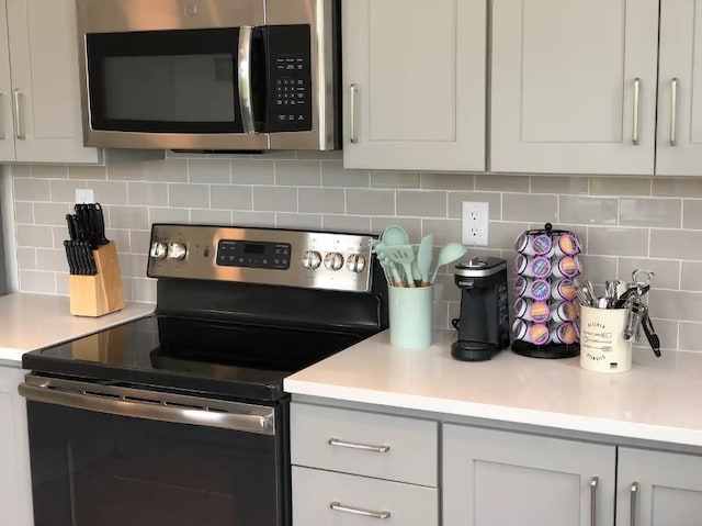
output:
M283 379L387 326L370 235L154 225L152 316L24 355L36 526L290 526Z

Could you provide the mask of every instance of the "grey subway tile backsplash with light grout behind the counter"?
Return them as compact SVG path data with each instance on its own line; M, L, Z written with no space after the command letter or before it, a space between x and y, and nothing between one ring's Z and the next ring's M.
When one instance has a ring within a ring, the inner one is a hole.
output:
M169 152L159 161L13 165L9 172L23 291L68 293L63 240L76 188L93 189L105 208L125 295L148 302L156 301L156 281L146 277L155 222L376 234L400 224L412 243L434 234L435 260L440 246L461 240L462 203L486 201L489 246L468 247L466 258L503 257L511 286L521 231L546 222L571 230L582 245L582 278L601 287L634 268L655 271L649 303L663 348L702 351L702 179L353 170L338 152ZM453 266L440 269L437 325L450 326L460 299Z

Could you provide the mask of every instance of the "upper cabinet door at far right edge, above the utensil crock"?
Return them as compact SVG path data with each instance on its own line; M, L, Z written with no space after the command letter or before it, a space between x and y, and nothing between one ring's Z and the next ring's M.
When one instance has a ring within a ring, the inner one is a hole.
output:
M656 174L702 174L702 1L661 0Z

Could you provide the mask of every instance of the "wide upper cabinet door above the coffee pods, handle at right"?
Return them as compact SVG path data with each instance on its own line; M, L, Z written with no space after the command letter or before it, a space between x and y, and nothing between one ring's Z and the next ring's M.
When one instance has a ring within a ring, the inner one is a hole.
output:
M653 175L658 0L495 0L490 169Z

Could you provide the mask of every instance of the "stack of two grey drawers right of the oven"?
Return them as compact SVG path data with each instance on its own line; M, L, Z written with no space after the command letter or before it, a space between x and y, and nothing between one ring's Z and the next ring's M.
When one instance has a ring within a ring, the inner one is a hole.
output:
M291 404L293 526L438 526L439 424Z

